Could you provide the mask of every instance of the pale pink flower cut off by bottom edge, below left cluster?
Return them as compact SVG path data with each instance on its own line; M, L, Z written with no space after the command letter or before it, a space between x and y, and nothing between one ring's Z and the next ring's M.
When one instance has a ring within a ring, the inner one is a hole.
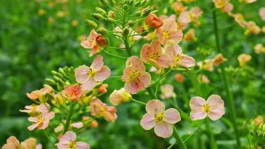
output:
M85 142L76 141L77 135L73 131L67 131L56 143L58 149L89 149L89 145Z

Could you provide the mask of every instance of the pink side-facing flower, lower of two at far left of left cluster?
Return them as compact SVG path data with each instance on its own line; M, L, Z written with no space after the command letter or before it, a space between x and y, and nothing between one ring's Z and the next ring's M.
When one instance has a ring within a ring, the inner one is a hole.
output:
M27 120L29 122L33 122L32 125L28 126L28 130L33 130L36 127L38 129L45 129L48 127L50 120L54 118L54 112L49 112L49 113L42 113L40 116L37 117L29 117Z

